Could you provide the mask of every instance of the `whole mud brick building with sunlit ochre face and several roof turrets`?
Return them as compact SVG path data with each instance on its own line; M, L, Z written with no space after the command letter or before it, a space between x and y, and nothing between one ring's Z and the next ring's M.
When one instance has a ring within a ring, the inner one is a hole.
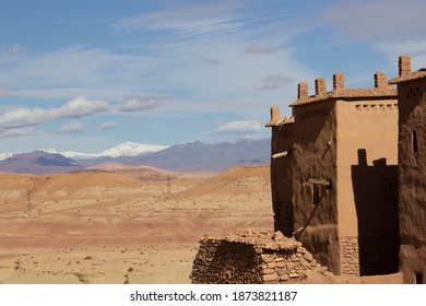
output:
M397 272L397 90L382 72L371 89L346 89L343 73L330 92L315 84L309 96L299 83L292 121L273 107L267 123L275 229L335 274Z

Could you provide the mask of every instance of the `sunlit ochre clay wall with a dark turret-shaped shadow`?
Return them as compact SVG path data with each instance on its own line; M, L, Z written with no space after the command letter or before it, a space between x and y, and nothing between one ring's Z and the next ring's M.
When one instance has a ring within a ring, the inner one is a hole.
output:
M338 101L336 117L339 236L358 243L351 271L356 262L360 275L398 272L397 97Z

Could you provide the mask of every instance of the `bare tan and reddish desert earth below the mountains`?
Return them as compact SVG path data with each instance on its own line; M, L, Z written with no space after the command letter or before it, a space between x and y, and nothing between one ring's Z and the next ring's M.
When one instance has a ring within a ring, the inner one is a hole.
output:
M273 226L268 166L166 180L99 170L0 174L0 283L189 283L204 233ZM400 282L377 278L330 282Z

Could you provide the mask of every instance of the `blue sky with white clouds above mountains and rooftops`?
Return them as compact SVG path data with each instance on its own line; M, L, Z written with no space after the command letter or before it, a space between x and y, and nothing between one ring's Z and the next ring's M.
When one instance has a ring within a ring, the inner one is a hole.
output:
M0 0L0 153L269 138L297 84L426 67L423 0Z

